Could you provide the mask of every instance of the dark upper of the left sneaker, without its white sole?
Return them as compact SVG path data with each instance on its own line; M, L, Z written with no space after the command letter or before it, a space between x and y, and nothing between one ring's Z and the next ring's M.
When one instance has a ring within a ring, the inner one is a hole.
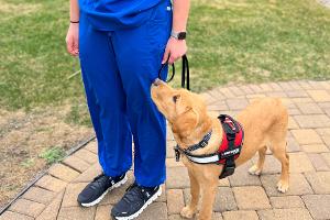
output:
M90 204L97 200L106 190L112 187L118 182L122 180L125 174L117 177L109 177L100 174L91 183L89 183L79 194L77 201L81 204Z

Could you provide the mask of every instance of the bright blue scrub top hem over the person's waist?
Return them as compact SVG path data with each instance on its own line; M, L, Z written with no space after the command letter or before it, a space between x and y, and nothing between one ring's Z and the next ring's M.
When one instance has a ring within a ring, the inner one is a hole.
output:
M155 7L164 0L79 0L80 13L85 13L95 29L116 31L139 26L150 18Z

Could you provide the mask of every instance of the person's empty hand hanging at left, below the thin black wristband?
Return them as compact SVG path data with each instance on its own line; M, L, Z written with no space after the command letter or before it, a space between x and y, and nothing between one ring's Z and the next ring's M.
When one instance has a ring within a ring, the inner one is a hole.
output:
M79 54L79 24L78 23L70 23L65 41L66 41L67 52L73 56L77 56Z

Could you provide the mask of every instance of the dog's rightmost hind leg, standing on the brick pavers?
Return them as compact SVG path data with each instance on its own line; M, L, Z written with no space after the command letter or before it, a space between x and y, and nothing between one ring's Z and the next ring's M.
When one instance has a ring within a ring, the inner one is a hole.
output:
M283 140L279 143L274 143L271 147L273 155L282 164L282 173L279 182L277 183L277 189L280 193L286 193L289 187L289 156L286 153L286 141Z

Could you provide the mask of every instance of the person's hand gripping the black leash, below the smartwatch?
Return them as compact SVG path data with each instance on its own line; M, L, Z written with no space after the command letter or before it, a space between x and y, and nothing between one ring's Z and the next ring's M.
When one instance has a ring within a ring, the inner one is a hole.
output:
M170 36L166 45L162 64L166 63L168 56L169 56L168 64L173 64L186 53L187 53L186 40L177 40Z

